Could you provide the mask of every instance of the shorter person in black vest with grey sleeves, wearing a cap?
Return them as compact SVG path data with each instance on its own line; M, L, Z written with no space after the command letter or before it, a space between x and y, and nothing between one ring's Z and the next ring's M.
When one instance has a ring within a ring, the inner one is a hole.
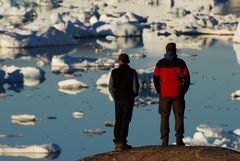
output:
M118 57L119 67L111 72L109 92L115 102L114 140L115 150L130 149L127 144L129 123L132 118L134 98L138 95L139 82L135 69L130 68L127 54Z

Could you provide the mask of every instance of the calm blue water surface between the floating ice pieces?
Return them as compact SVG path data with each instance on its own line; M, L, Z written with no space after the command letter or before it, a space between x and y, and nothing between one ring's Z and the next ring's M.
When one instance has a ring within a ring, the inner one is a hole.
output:
M194 55L193 57L182 57L189 67L192 82L186 95L185 113L185 136L191 137L196 131L196 126L203 123L216 125L227 131L239 128L240 102L230 98L231 93L240 88L240 64L237 53L233 49L233 43L230 40L223 41L222 37L221 39L202 38L201 40L204 42L200 46L201 49L179 49L178 51ZM159 43L161 41L159 38ZM1 64L36 66L37 57L40 55L51 60L54 54L48 53L109 57L110 53L118 50L106 48L96 53L95 48L100 46L89 42L96 42L96 40L88 41L81 46L21 50L14 59L1 60ZM140 44L137 43L133 48L124 49L127 53L146 55L145 58L131 59L130 65L136 69L153 67L163 56L164 45L154 46L155 49L150 50L144 46L144 42L146 40ZM127 45L125 44L125 46ZM27 56L28 59L26 59ZM75 74L80 76L76 79L88 84L89 88L76 95L69 95L61 93L57 89L57 83L68 79L67 77L52 73L50 64L46 64L41 69L46 72L46 79L37 86L24 86L20 92L8 90L7 85L4 86L6 96L0 98L1 133L22 134L23 137L2 138L0 139L1 144L56 143L62 149L61 154L55 156L56 161L77 160L88 155L113 150L113 128L106 127L104 123L114 121L114 104L95 86L96 80L108 70L77 71ZM76 119L72 116L75 111L83 111L85 116ZM157 111L157 104L134 108L128 137L130 144L133 146L160 144L160 116ZM32 126L17 125L11 123L10 117L14 114L34 114L40 121ZM175 142L173 120L171 117L171 143ZM104 130L105 133L102 135L83 133L85 129L96 128ZM0 160L27 161L34 159L0 156Z

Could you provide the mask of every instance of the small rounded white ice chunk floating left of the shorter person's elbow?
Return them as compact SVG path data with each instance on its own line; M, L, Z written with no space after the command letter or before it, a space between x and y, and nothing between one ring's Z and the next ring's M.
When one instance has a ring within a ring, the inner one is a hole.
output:
M74 91L74 90L79 90L81 88L88 88L88 85L86 85L76 79L68 79L68 80L58 82L58 87L60 89Z

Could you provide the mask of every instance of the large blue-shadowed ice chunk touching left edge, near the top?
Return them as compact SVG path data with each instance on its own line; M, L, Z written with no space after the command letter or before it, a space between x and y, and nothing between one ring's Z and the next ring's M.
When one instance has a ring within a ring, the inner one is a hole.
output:
M76 44L70 35L59 31L55 27L44 27L37 31L22 29L19 31L2 31L0 33L1 47L38 47Z

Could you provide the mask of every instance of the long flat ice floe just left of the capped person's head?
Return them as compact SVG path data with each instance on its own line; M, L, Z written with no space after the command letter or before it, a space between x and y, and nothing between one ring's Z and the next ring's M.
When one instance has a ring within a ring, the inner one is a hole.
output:
M53 56L52 72L67 72L71 69L110 68L116 66L116 60L107 58L73 57L70 55Z

